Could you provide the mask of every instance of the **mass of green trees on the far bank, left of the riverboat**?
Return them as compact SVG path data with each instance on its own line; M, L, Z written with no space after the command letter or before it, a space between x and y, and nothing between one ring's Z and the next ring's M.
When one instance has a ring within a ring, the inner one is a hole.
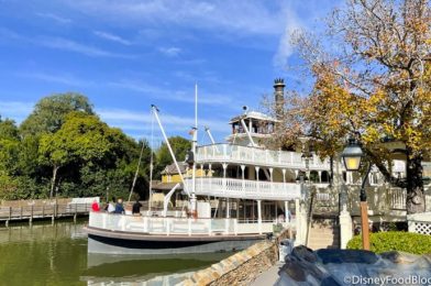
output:
M81 95L43 98L20 128L0 118L0 198L103 196L108 188L110 196L126 197L141 146L133 190L146 197L152 154L146 141L110 128Z

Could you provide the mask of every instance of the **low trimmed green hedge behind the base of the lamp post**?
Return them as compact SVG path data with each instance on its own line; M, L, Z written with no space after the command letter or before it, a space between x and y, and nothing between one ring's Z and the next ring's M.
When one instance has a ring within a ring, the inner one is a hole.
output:
M350 250L362 249L362 237L355 235L347 243ZM388 231L376 232L369 235L369 249L373 252L382 253L387 251L402 251L412 254L430 254L431 253L431 235Z

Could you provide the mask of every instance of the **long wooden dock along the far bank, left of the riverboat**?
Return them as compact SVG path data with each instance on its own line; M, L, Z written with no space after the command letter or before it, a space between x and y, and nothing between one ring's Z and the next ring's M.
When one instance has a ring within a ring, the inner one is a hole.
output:
M29 221L32 223L36 219L76 218L86 216L91 210L91 204L47 204L31 206L9 206L0 207L0 221L9 226L10 221Z

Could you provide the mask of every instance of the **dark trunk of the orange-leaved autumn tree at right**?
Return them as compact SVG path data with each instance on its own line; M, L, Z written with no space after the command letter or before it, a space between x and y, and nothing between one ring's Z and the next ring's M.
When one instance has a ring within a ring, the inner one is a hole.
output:
M422 179L422 157L408 157L407 167L407 213L417 213L426 211L423 179Z

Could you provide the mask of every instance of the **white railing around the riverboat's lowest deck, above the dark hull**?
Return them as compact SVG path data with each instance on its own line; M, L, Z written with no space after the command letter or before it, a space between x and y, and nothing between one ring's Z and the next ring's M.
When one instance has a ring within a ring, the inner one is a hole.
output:
M90 212L88 226L109 231L158 235L218 235L273 232L273 221L241 223L236 219L154 218ZM285 227L288 223L284 223Z

